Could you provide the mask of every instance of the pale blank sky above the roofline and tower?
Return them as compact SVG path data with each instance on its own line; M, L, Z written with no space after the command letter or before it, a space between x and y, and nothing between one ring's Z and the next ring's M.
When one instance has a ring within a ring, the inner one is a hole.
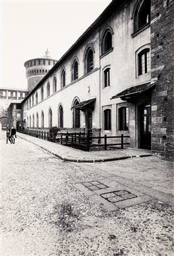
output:
M59 60L110 2L1 1L1 87L27 89L24 62Z

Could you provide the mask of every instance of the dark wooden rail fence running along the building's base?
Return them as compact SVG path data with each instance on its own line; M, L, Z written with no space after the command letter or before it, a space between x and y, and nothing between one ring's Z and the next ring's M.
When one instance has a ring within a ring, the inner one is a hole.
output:
M39 131L39 130L18 130L19 133L24 133L32 137L39 139L44 139L45 141L51 141L55 143L60 143L64 146L70 146L78 148L80 150L89 151L92 147L103 147L107 150L108 146L121 146L123 148L125 145L129 145L129 142L124 142L125 138L130 138L129 136L107 136L106 134L102 137L93 137L92 133L56 133L52 134L49 131ZM116 143L115 140L120 139L120 142ZM93 142L102 141L103 143ZM109 140L109 141L108 141ZM111 143L112 141L112 143Z

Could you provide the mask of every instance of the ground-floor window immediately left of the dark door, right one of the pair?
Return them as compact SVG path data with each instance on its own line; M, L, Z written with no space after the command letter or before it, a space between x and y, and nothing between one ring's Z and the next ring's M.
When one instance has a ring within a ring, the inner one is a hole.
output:
M126 131L129 129L129 108L118 109L118 130Z

